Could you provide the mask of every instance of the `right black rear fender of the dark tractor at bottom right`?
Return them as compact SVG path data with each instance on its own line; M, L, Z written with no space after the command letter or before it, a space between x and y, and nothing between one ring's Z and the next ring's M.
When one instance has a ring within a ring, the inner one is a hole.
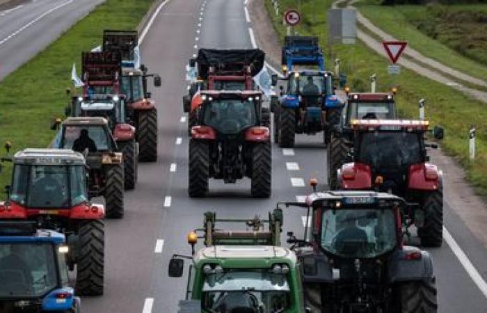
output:
M433 278L433 262L429 253L416 247L404 246L388 259L391 283Z

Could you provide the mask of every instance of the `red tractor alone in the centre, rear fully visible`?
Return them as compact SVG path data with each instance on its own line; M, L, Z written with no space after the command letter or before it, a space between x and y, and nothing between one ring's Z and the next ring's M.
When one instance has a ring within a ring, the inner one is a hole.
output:
M189 141L189 196L204 197L209 178L235 183L250 177L255 198L271 195L271 142L262 124L262 93L200 93L197 125Z

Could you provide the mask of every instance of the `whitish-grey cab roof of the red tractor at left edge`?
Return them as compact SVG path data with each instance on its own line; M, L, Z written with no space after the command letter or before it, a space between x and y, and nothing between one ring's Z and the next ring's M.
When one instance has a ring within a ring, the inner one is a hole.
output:
M83 154L69 149L25 149L15 153L16 164L35 165L84 165Z

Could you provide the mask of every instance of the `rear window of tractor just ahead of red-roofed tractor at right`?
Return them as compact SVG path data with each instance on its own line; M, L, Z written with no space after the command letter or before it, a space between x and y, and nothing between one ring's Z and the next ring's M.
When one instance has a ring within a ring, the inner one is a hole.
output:
M392 120L396 118L394 102L349 102L346 120Z

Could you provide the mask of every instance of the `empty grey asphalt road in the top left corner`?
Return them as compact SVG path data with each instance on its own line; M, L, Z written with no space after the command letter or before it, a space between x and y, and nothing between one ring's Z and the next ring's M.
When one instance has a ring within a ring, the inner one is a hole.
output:
M13 0L0 6L0 80L104 0Z

